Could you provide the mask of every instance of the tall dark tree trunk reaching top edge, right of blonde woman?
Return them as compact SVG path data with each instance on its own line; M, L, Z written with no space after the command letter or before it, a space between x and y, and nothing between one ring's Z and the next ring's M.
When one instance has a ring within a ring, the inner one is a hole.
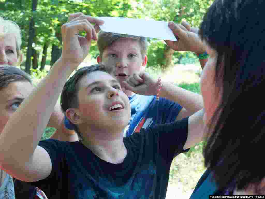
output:
M38 0L32 0L32 13L37 9ZM31 55L32 55L32 43L35 37L35 22L33 16L30 19L29 23L29 40L28 40L28 50L27 50L27 59L25 63L25 72L30 74L30 67L31 67Z

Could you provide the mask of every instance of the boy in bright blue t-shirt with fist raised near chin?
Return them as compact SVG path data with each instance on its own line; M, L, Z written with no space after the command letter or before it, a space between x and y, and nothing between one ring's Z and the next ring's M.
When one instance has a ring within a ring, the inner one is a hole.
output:
M108 20L110 23L111 19ZM155 21L150 22L155 23ZM117 23L119 21L114 24L120 26ZM105 23L102 26L104 29L108 27ZM185 29L185 27L182 28ZM135 31L133 32L137 34ZM145 29L141 31L142 35L153 35L145 32L147 31ZM130 100L131 119L125 128L125 137L134 132L140 132L141 128L181 120L202 109L203 101L200 95L174 86L164 79L162 79L161 90L158 92L158 80L143 71L147 64L146 37L103 31L98 36L100 55L97 61L112 69L112 75L120 82L123 92ZM171 45L173 45L172 42ZM156 100L157 94L161 96L158 100Z

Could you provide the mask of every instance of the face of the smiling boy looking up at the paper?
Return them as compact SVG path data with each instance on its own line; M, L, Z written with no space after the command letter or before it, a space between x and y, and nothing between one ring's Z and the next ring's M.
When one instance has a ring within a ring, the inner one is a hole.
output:
M78 125L83 136L90 128L92 131L110 129L117 133L127 126L131 108L128 97L122 92L120 83L103 71L95 71L79 81L78 108L66 111L69 118ZM72 112L72 113L71 113ZM96 136L106 138L98 133Z

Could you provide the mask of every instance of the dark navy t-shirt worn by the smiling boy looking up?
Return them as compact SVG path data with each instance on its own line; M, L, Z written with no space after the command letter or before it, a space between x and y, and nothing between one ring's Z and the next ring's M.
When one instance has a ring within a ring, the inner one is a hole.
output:
M53 198L165 198L173 158L186 152L188 118L141 129L123 138L127 156L120 164L106 162L81 142L44 140L51 174L31 183Z

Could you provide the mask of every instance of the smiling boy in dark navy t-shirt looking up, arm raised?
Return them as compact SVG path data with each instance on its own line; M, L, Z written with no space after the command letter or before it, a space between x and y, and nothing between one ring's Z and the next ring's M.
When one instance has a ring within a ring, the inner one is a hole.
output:
M80 13L68 21L60 59L0 135L1 168L37 185L50 199L165 198L172 159L205 137L202 111L123 138L130 103L106 67L81 68L67 81L102 21ZM80 31L86 37L78 36ZM61 92L62 109L83 139L39 142Z

